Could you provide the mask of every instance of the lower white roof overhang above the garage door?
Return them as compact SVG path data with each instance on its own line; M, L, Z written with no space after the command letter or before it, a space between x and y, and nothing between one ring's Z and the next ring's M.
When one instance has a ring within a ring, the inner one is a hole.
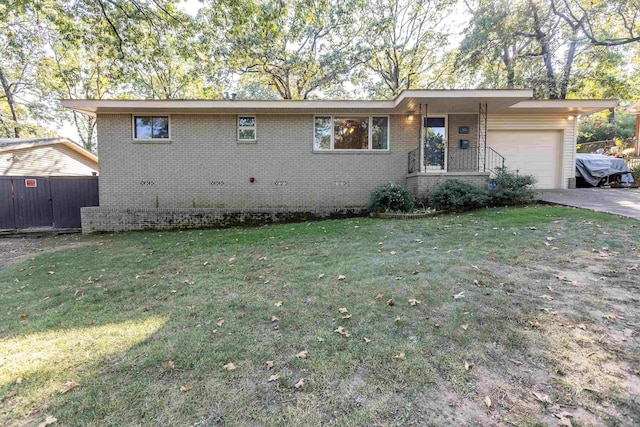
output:
M498 114L566 114L581 115L597 113L618 106L618 101L612 99L552 99L539 101L521 101Z

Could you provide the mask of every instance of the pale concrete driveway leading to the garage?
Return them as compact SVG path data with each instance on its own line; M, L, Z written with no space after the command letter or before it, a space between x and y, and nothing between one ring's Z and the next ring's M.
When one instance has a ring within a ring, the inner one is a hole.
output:
M538 200L640 220L640 190L637 188L541 190Z

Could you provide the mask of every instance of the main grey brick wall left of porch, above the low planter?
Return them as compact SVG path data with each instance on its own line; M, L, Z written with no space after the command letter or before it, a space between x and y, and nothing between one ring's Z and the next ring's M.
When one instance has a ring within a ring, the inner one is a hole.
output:
M170 143L134 143L131 115L99 115L100 206L363 206L376 186L405 184L420 126L392 115L389 152L320 153L313 115L256 115L256 123L257 142L239 143L235 115L175 114Z

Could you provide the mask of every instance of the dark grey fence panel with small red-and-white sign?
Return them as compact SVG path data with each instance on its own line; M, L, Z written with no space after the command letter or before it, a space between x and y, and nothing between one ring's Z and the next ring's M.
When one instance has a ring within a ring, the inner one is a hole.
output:
M27 179L35 179L37 186L27 187ZM16 228L50 227L53 224L51 186L48 178L14 177L13 194Z

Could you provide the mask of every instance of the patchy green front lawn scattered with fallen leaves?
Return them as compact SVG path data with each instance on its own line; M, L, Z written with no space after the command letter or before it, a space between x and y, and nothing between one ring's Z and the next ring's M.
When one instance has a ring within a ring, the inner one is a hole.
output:
M0 270L0 424L637 425L639 226L537 206L45 239Z

